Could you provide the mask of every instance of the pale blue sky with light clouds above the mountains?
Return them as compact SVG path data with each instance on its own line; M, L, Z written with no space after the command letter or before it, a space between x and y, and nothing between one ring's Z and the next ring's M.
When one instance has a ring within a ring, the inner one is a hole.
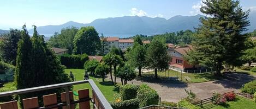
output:
M201 14L201 0L0 0L0 29L91 23L97 18L148 16L169 19ZM256 11L256 0L241 0L243 9Z

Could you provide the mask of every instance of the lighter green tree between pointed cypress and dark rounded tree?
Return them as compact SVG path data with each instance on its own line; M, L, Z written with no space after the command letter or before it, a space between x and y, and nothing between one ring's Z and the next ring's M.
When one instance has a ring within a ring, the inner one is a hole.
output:
M63 28L61 29L61 34L55 33L47 43L52 47L68 49L68 54L72 54L73 40L78 30L76 27Z

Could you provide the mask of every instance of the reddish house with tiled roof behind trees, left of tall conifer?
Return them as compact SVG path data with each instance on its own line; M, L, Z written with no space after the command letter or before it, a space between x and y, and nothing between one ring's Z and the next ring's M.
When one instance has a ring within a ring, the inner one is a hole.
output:
M170 67L175 69L187 69L193 68L193 65L189 65L189 63L184 60L183 56L187 54L189 50L192 49L192 46L180 47L180 48L171 48L169 47L168 52L171 55L172 59L170 62Z

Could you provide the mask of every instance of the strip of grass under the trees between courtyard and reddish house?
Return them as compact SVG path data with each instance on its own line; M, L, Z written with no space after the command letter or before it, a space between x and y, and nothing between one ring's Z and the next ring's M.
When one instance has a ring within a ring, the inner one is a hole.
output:
M219 79L213 73L180 73L175 70L166 70L166 72L157 72L160 79L168 79L169 77L178 77L181 82L197 83ZM187 77L187 79L185 78ZM142 73L142 78L154 78L154 72Z

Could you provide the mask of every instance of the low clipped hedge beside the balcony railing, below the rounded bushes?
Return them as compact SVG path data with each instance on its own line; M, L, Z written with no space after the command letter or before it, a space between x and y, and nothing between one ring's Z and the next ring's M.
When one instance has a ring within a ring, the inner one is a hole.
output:
M114 109L123 109L123 108L129 108L129 109L138 109L139 108L139 100L137 98L130 99L130 100L124 100L121 102L111 102L110 105Z

